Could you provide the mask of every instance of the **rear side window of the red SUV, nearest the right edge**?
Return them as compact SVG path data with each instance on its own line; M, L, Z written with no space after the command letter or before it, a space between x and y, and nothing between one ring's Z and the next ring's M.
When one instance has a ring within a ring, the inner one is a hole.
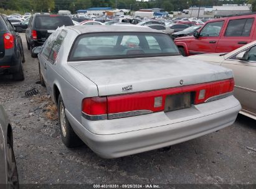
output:
M235 19L229 21L227 30L225 31L226 37L250 36L254 18L250 19Z

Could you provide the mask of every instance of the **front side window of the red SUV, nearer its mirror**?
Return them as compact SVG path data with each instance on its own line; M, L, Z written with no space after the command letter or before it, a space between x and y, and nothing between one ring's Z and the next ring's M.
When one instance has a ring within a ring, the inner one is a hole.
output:
M200 37L218 37L224 21L210 22L200 32Z

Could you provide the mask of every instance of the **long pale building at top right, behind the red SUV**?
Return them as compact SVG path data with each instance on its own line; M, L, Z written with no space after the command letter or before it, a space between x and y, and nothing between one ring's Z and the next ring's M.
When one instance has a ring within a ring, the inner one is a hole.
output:
M227 17L235 14L246 14L252 12L250 6L239 6L239 5L224 5L224 6L213 6L212 14L214 17Z

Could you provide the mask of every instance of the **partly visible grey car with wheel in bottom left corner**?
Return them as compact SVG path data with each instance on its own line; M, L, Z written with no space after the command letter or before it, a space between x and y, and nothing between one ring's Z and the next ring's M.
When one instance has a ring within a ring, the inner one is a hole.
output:
M0 105L0 188L19 188L13 152L12 127Z

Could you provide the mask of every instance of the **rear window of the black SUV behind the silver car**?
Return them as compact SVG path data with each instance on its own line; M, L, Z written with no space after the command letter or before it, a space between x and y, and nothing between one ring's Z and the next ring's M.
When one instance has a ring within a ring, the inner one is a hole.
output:
M72 20L68 16L40 16L35 21L36 29L57 29L63 25L73 25Z

